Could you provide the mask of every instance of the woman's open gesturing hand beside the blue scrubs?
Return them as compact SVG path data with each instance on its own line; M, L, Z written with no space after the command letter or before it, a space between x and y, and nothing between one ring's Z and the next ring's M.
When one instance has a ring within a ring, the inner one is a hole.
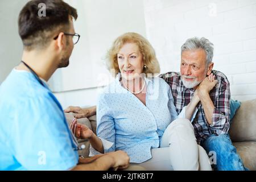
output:
M73 119L69 127L76 138L90 139L93 135L93 131L87 126L77 123L76 118Z

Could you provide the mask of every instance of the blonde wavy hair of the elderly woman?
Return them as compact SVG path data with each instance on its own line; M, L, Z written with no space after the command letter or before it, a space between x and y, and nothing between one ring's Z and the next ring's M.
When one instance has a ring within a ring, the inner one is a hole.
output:
M143 55L143 63L146 66L146 68L143 68L143 73L145 73L146 76L148 73L154 74L160 72L160 66L158 59L156 59L154 48L151 46L147 39L145 39L142 35L134 32L127 32L115 39L112 47L107 53L106 63L109 71L114 69L115 76L120 72L117 62L117 53L126 43L135 43L139 47L139 51Z

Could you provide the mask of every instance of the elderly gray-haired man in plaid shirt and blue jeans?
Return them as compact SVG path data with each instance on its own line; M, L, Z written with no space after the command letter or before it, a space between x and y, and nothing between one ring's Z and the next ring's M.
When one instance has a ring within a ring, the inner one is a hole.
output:
M197 143L216 155L214 169L245 170L228 135L229 81L223 73L212 70L212 58L213 44L208 39L188 39L181 46L180 73L168 72L160 77L172 89L178 114L183 107L196 105L192 125Z

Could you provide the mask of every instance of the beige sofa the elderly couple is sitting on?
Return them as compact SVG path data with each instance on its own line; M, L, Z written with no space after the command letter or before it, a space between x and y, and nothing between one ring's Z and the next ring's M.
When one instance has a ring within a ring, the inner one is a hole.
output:
M65 113L68 123L73 119L73 113ZM77 122L89 127L96 133L96 115L90 118L77 119ZM256 170L256 99L244 101L236 111L229 129L230 138L237 148L245 167ZM85 148L79 151L79 155L88 157L89 141L78 140L79 144L84 144Z

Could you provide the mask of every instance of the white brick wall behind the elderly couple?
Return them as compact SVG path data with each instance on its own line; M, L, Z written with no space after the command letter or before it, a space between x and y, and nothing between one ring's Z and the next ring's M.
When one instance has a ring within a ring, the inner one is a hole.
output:
M179 71L185 40L205 36L232 98L256 98L256 0L144 0L144 15L162 73Z

